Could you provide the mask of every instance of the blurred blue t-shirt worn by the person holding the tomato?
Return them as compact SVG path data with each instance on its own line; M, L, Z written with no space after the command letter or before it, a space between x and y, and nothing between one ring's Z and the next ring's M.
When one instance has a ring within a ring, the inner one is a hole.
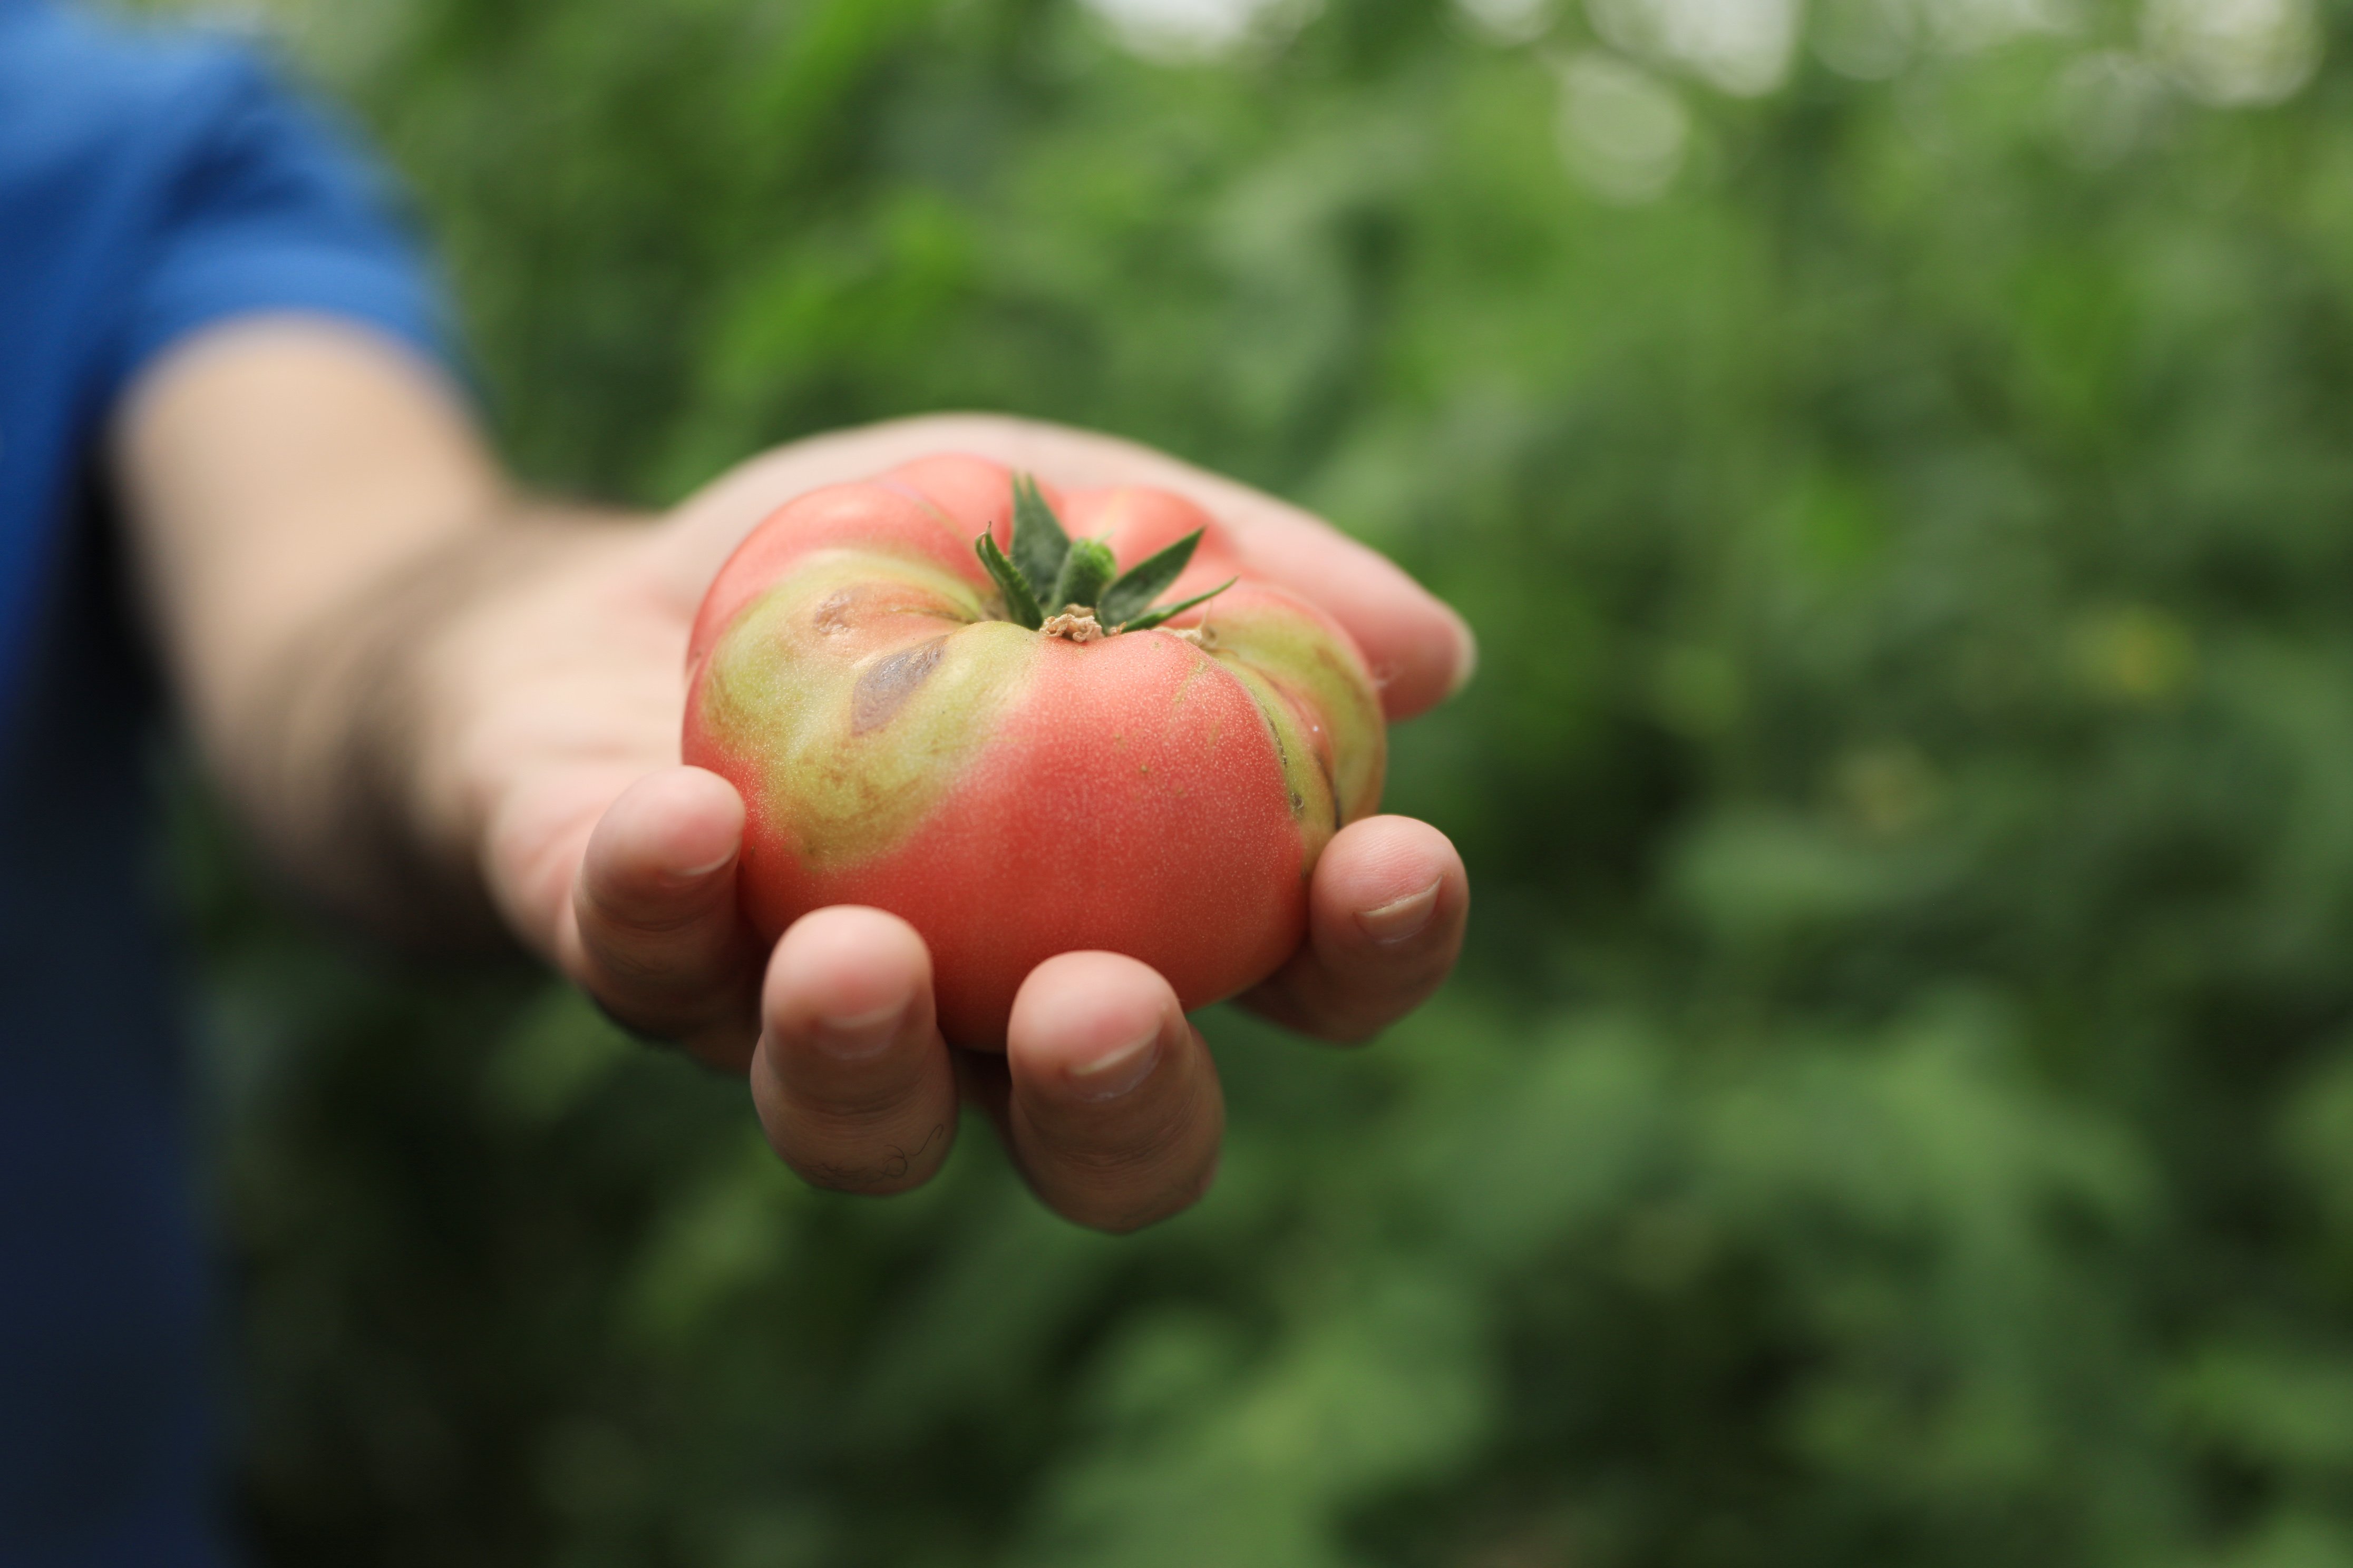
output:
M0 0L0 1568L219 1563L207 1262L106 421L226 317L440 353L369 169L247 49Z

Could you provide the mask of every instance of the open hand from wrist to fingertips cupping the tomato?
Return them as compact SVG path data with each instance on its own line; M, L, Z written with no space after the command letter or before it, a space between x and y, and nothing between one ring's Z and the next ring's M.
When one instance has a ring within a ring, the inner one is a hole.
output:
M767 950L736 910L744 804L675 764L687 625L727 552L781 501L927 451L976 451L1064 484L1158 484L1226 520L1257 569L1318 599L1365 649L1393 719L1445 698L1471 637L1386 559L1313 517L1162 454L1054 425L939 416L802 442L722 477L656 529L572 529L435 651L440 811L482 844L506 919L614 1018L751 1074L762 1126L807 1180L901 1192L955 1135L998 1121L1059 1213L1132 1229L1207 1187L1217 1067L1148 966L1040 964L1002 1058L944 1044L929 954L880 910L800 919ZM1421 1004L1461 945L1468 882L1407 818L1344 827L1315 867L1308 940L1247 1006L1355 1041Z

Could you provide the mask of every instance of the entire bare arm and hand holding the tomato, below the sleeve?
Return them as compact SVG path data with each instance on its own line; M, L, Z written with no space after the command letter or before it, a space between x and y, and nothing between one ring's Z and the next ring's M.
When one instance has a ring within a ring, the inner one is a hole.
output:
M748 1074L784 1161L845 1192L927 1180L972 1100L1054 1211L1134 1229L1207 1190L1224 1098L1200 1032L1134 959L1040 964L993 1056L941 1041L906 922L816 910L774 945L748 929L744 804L678 764L678 733L694 609L769 510L929 451L1155 484L1332 611L1393 719L1473 665L1445 604L1311 515L1033 421L944 414L795 442L647 522L513 491L464 397L407 350L254 317L155 364L111 447L165 661L280 865L393 936L504 926L619 1023ZM1445 980L1468 903L1445 835L1351 823L1318 860L1306 943L1245 1004L1367 1039Z

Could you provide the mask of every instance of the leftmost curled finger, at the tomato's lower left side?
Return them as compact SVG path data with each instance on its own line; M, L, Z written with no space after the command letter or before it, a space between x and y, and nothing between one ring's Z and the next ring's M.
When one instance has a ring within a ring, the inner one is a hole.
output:
M664 769L588 835L565 969L633 1030L741 1072L758 1037L760 943L736 907L744 799L718 773Z

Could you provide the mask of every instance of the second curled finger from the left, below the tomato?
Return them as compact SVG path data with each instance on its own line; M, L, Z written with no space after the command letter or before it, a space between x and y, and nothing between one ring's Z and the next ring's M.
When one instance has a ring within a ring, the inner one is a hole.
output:
M751 1067L760 1126L802 1180L906 1192L955 1143L955 1072L932 1009L932 954L896 914L838 905L776 943Z

